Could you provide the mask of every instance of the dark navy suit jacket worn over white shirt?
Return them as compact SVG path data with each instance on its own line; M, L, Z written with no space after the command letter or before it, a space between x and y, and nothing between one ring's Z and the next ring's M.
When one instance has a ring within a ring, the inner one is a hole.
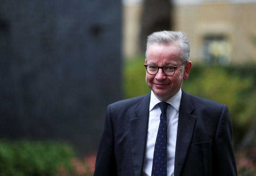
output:
M94 176L142 174L150 94L108 105ZM234 176L226 105L182 91L174 176ZM153 157L153 156L152 156Z

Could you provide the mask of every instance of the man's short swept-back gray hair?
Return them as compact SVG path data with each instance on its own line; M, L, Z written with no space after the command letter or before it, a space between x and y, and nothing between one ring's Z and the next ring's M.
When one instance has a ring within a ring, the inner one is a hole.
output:
M184 62L189 61L189 41L186 34L181 31L159 31L149 35L147 38L146 58L148 57L148 48L152 44L177 44L180 46L180 58Z

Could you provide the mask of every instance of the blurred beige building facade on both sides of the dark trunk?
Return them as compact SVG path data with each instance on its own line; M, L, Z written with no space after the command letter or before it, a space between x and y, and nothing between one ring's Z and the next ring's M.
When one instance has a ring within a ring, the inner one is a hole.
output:
M142 0L124 0L123 53L140 54ZM130 3L129 3L130 2ZM190 41L190 60L246 64L256 62L256 0L174 0L172 30L181 30Z

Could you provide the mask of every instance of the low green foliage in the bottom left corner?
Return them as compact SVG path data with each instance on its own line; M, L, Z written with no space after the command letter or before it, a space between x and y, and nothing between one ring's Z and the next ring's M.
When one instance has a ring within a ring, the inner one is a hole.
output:
M59 166L72 172L70 159L74 156L67 144L0 140L1 176L51 176Z

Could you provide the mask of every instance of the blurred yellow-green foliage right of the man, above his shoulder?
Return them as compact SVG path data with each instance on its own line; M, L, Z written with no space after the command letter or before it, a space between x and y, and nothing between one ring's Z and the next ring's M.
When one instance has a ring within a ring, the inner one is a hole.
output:
M256 115L255 75L253 67L199 65L192 68L182 88L193 95L226 104L233 124L234 141L238 143Z

